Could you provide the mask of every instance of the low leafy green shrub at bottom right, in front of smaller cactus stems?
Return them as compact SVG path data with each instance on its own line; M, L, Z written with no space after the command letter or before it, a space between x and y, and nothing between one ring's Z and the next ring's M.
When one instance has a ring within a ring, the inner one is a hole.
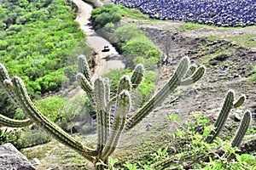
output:
M115 170L137 170L142 168L148 170L255 169L255 156L240 155L237 153L238 148L233 145L237 136L243 135L241 129L245 125L246 127L249 125L250 121L247 122L247 120L250 120L250 114L248 113L246 111L236 137L231 142L216 138L212 143L206 141L215 128L209 125L210 120L204 118L201 114L192 113L195 122L185 122L181 125L177 116L171 115L170 121L176 122L179 128L175 133L172 133L172 145L166 145L164 149L160 148L156 153L151 154L151 159L154 160L153 164L148 165L147 161L135 161L133 163L126 161L123 164L123 167L126 168L115 167L114 165L112 167ZM201 127L203 127L202 131L200 130ZM113 159L110 158L110 160L113 164L118 163L117 159L112 161Z

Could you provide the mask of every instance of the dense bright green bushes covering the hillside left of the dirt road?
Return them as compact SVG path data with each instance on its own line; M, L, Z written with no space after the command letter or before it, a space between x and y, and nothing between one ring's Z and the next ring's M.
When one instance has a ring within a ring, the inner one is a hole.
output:
M84 33L66 1L4 0L0 12L0 61L9 73L22 77L34 97L68 82L67 61L89 49L78 44Z

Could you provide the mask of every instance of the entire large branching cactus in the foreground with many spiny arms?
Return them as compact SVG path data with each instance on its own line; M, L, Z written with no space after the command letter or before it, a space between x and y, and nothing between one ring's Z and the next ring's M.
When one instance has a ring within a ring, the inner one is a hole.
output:
M117 94L111 98L108 79L98 77L93 82L84 55L80 55L78 60L79 73L77 74L77 80L90 99L91 105L94 106L96 110L98 133L96 149L84 146L84 144L81 144L68 133L64 132L60 127L55 125L55 123L50 122L32 103L20 77L10 78L6 68L2 64L0 64L1 88L3 88L12 99L15 99L15 103L20 106L22 111L26 113L30 119L17 121L5 116L0 116L0 124L9 127L22 127L35 122L48 133L52 134L52 136L58 139L62 144L66 144L68 147L76 150L80 155L93 162L96 169L108 167L108 156L111 156L116 149L119 138L124 130L135 127L145 116L148 116L155 107L159 106L175 88L197 82L205 73L204 66L196 68L195 65L190 65L188 57L184 57L172 77L166 82L166 85L126 120L126 115L130 111L131 106L131 89L137 88L143 80L143 65L137 65L131 79L127 76L120 79ZM110 107L112 105L115 105L113 124L110 123L109 118Z

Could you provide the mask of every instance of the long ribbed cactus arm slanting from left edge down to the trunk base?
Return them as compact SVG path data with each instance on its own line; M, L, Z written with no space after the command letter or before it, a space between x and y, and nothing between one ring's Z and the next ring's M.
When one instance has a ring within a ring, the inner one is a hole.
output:
M20 105L22 111L26 113L33 122L38 123L40 127L43 127L48 133L52 134L55 139L61 141L62 144L77 150L82 156L86 157L88 160L93 160L93 157L96 153L87 148L83 144L80 144L78 141L73 139L68 133L63 131L60 127L56 126L55 123L50 122L47 117L45 117L36 106L32 103L32 100L29 98L26 88L20 77L13 77L12 80L5 80L3 85L9 91L13 91L15 94L15 99L17 104Z

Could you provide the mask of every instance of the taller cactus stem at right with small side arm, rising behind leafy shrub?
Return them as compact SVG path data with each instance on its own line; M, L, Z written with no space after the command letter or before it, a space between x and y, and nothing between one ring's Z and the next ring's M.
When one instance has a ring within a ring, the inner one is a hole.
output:
M224 100L224 105L223 105L220 113L218 114L218 118L217 118L216 122L214 123L215 129L209 133L209 136L206 139L206 141L208 143L212 143L212 141L220 133L222 127L224 127L224 123L226 122L226 120L230 114L230 110L233 106L233 102L234 102L234 92L233 92L233 90L230 90L228 92L228 94L226 95L226 98Z

